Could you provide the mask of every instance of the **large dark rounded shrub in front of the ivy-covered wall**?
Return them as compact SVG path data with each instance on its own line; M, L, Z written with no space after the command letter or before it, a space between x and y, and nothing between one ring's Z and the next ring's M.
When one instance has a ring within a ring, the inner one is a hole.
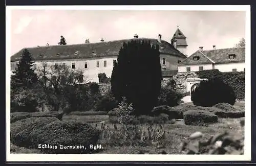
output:
M216 78L201 81L199 86L191 91L191 101L194 105L203 107L211 107L218 103L233 105L236 102L236 95L231 86Z

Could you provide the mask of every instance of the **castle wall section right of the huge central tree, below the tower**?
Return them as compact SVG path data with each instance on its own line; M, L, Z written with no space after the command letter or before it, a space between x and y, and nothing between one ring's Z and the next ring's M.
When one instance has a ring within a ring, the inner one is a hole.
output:
M165 64L163 64L163 58L165 58ZM161 67L170 69L170 70L177 70L178 69L178 61L182 61L185 58L177 57L173 55L167 55L167 54L160 54L160 63Z

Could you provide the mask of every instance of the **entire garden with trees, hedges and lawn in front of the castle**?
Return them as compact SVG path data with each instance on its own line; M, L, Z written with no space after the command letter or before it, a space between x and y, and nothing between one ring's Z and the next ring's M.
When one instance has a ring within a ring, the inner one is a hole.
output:
M161 86L159 48L150 42L123 44L111 78L99 74L111 84L103 93L81 83L80 71L43 65L34 73L32 64L25 50L11 79L11 153L244 154L244 94L212 77L182 103L187 94L173 80ZM87 148L55 148L79 145Z

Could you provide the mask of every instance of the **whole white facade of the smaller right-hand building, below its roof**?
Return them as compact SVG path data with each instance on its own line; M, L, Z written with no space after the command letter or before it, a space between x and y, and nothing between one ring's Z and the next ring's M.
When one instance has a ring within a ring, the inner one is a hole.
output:
M190 72L199 71L199 67L203 67L203 70L218 69L220 72L244 72L245 62L179 65L178 72L188 72L187 67L190 67Z

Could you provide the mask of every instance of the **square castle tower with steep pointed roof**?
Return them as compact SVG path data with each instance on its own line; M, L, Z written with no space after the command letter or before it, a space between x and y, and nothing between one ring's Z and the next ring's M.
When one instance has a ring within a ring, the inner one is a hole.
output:
M181 32L181 30L179 29L179 26L176 32L174 33L172 40L170 41L177 50L179 50L182 54L186 55L186 52L187 52L186 36Z

